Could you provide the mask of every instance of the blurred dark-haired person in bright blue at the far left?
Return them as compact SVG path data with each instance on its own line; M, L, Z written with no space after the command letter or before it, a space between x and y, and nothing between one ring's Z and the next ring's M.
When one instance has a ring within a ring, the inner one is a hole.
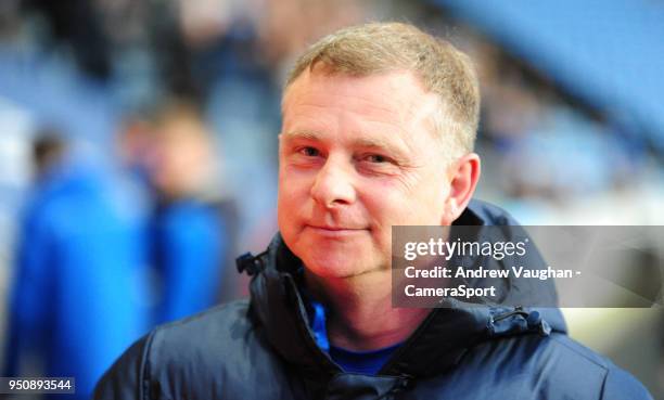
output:
M2 376L73 376L85 399L149 327L139 222L56 130L37 134L35 183L10 286Z

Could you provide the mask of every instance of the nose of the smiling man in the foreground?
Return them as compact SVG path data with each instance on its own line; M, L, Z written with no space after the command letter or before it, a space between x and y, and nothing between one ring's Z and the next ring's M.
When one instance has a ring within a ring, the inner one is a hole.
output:
M325 208L353 204L356 191L350 163L341 157L328 157L316 175L311 197Z

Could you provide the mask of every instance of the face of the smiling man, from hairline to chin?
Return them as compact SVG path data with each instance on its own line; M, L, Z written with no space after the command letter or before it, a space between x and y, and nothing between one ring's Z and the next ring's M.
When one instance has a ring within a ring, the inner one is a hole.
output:
M279 228L321 278L388 269L392 225L444 223L445 150L434 94L411 73L314 68L288 89L279 150Z

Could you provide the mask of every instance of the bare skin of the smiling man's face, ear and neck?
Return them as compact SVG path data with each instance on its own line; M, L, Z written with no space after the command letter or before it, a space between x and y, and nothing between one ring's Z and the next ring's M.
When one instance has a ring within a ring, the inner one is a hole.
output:
M306 267L307 287L336 310L328 333L344 349L400 343L426 317L426 309L391 307L392 227L450 224L477 181L478 157L471 149L452 150L444 140L452 133L436 129L436 117L465 112L462 122L473 127L465 133L474 136L478 106L467 60L439 48L457 62L449 73L467 81L459 95L470 111L447 109L406 65L340 74L335 64L304 57L308 65L295 68L284 93L279 227ZM450 163L452 153L464 155Z

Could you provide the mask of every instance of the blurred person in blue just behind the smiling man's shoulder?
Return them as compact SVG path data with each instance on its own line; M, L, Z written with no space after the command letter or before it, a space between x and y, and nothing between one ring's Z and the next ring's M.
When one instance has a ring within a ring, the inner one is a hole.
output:
M219 299L233 212L214 189L212 138L200 109L174 101L153 122L149 179L155 208L150 229L156 271L155 322L202 311Z

